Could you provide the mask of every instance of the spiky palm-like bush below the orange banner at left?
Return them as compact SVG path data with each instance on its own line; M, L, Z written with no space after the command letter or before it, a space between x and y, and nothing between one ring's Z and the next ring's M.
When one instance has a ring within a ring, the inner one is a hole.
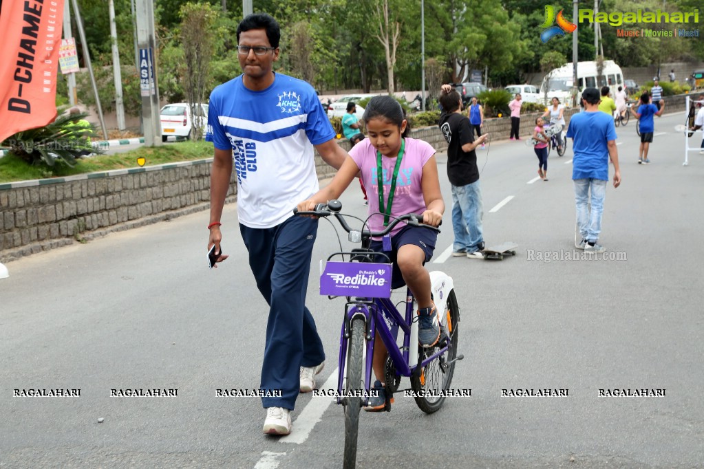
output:
M74 123L87 115L80 113L57 117L45 127L8 137L1 146L9 147L12 153L31 165L53 167L58 161L73 166L82 155L102 153L91 145L90 137L98 136L93 127L81 127Z

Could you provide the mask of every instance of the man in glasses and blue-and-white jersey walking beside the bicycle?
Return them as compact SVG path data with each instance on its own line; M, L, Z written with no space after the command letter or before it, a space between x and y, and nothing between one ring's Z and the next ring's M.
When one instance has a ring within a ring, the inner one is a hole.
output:
M215 245L218 262L227 258L220 251L220 216L234 161L239 229L257 287L270 306L260 383L267 394L263 431L287 435L298 392L313 390L325 363L305 304L318 220L295 217L292 210L318 192L313 147L336 168L347 153L334 140L313 87L272 70L279 39L279 25L270 15L244 18L237 27L243 75L210 94L206 140L215 146L215 159L208 248ZM239 313L251 314L246 307Z

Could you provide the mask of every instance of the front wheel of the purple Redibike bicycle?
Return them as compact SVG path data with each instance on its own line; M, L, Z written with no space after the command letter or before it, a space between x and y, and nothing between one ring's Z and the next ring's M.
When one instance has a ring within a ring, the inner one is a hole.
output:
M344 468L354 468L357 463L357 433L359 428L359 411L362 398L359 391L362 383L362 355L364 351L364 319L352 320L350 338L347 346L347 384L345 410L345 453ZM356 393L356 394L355 394Z

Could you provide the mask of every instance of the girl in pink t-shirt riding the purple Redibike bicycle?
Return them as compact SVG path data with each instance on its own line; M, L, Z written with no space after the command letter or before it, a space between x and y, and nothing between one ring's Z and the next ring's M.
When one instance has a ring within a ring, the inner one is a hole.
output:
M308 212L318 203L339 198L359 173L369 198L370 231L382 231L389 219L409 213L422 214L424 224L439 226L445 204L435 150L425 141L408 138L403 108L390 96L372 98L363 120L368 138L350 150L330 184L299 203L298 210ZM402 285L402 279L415 296L419 307L418 342L422 347L432 347L440 338L438 312L430 296L430 275L424 267L433 255L436 239L435 231L399 224L384 239L372 240L370 246L386 253L393 262L394 288ZM386 347L377 333L372 368L378 395L370 399L367 411L384 410L385 361Z

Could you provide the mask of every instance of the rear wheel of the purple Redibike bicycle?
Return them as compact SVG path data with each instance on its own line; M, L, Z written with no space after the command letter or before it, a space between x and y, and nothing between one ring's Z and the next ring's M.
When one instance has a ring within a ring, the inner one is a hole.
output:
M441 408L445 401L445 396L441 395L441 392L450 388L452 376L455 373L454 360L457 357L460 322L460 308L457 304L457 297L455 297L455 290L451 290L448 295L446 310L441 311L439 319L441 330L446 333L450 347L443 355L421 368L420 374L413 373L410 376L410 387L415 392L415 404L425 413L433 413ZM444 346L442 342L444 340L441 339L438 345ZM438 348L436 346L419 349L418 364L437 352Z

